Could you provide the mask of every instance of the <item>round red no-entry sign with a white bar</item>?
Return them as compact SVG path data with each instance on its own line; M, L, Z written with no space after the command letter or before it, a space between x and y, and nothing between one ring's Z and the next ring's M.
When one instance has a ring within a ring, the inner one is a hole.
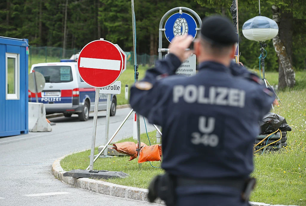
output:
M77 66L84 82L92 87L107 87L120 76L123 58L113 43L96 40L81 50Z

